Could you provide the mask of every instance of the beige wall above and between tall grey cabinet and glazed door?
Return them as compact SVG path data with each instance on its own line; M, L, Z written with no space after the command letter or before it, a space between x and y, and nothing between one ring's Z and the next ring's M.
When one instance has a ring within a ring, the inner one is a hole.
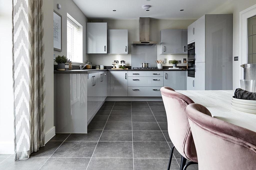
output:
M239 56L239 12L256 4L255 0L229 0L209 14L233 14L233 56ZM256 15L256 14L255 14ZM241 56L239 56L239 60ZM233 89L240 86L239 61L233 61Z

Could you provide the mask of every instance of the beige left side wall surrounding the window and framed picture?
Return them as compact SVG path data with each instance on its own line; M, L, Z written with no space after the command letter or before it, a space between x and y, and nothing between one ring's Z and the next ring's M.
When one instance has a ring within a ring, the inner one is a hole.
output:
M61 9L57 8L57 4L61 5ZM77 22L83 26L83 62L87 60L86 54L86 16L77 7L72 0L54 0L54 10L62 16L62 51L55 51L54 54L67 56L67 13L71 15Z

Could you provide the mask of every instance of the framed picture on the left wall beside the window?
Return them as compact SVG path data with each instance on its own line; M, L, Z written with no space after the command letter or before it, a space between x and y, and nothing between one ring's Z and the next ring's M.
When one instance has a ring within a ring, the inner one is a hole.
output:
M62 51L62 16L53 11L53 49Z

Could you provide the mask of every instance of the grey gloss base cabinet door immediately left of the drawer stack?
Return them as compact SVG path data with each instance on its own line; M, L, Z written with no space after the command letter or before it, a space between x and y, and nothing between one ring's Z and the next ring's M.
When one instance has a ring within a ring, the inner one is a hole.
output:
M110 96L128 96L128 71L110 71Z

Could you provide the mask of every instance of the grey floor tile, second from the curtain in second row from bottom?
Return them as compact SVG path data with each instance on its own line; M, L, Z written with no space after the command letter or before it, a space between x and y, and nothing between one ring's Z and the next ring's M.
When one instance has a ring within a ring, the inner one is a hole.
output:
M91 157L97 142L65 141L51 157Z

